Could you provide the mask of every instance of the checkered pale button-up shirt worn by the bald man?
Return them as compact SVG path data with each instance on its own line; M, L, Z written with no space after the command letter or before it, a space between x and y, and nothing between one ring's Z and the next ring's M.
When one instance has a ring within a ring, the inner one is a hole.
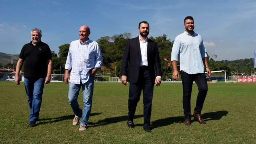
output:
M83 45L80 40L70 43L65 69L72 69L69 82L73 84L86 83L90 77L90 70L102 67L102 54L99 44L87 40Z

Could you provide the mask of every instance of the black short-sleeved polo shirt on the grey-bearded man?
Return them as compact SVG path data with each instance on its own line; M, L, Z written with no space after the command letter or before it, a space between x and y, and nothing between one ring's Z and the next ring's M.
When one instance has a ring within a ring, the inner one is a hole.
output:
M23 46L20 58L24 60L25 78L46 77L47 60L52 59L52 53L46 43L41 41L34 46L30 41Z

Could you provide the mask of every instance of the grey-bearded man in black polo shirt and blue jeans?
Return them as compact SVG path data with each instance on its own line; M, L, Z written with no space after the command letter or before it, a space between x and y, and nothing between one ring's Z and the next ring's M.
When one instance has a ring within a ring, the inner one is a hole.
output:
M42 31L31 30L31 42L21 50L16 66L15 83L20 85L19 74L25 62L24 85L30 110L28 127L35 126L39 118L44 84L49 84L52 73L52 54L49 46L41 41Z

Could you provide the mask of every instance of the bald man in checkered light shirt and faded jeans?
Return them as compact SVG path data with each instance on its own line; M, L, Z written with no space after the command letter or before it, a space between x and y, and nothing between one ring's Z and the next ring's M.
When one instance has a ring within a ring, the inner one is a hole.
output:
M101 49L97 42L89 39L90 33L88 26L82 25L80 27L80 39L70 43L65 64L64 81L66 84L69 82L68 102L75 114L72 124L77 125L79 118L82 118L80 131L87 128L92 108L94 75L97 69L102 67ZM70 77L69 70L71 70ZM83 91L83 110L79 108L77 103L81 87Z

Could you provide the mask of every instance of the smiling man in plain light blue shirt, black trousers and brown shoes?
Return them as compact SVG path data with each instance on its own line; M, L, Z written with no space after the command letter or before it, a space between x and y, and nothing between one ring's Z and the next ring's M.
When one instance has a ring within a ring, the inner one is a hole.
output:
M177 70L178 56L180 56L180 71L183 85L183 109L185 115L185 125L191 125L191 92L193 81L198 86L198 95L193 116L200 124L205 124L201 117L201 110L207 94L208 86L206 76L204 74L204 64L206 66L207 75L210 76L211 71L207 62L207 54L203 45L201 36L195 33L194 20L191 16L184 19L185 32L175 38L171 61L173 68L173 79L179 78Z

